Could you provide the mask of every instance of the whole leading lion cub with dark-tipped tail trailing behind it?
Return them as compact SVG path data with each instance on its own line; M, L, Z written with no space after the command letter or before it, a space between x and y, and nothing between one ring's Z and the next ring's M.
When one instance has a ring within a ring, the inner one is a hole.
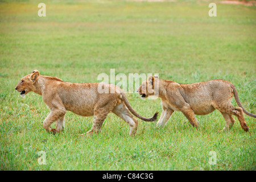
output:
M123 90L118 86L103 84L103 87L106 86L109 89L109 93L99 93L97 90L99 84L64 82L60 78L42 76L38 70L35 70L24 76L15 89L22 96L28 92L35 92L43 97L43 101L51 110L43 121L43 127L53 133L63 130L67 110L82 116L94 116L92 129L86 135L99 133L110 111L130 125L130 135L135 135L138 127L138 120L131 113L144 121L156 121L157 114L152 118L144 118L136 113L131 108ZM113 88L115 92L110 93ZM55 121L57 121L56 129L52 129L51 124Z

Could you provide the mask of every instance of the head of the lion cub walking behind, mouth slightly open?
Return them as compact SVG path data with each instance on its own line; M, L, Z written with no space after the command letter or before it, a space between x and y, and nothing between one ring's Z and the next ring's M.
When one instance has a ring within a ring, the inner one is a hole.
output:
M142 82L137 92L141 95L142 99L148 96L158 96L158 76L150 76L146 81Z

